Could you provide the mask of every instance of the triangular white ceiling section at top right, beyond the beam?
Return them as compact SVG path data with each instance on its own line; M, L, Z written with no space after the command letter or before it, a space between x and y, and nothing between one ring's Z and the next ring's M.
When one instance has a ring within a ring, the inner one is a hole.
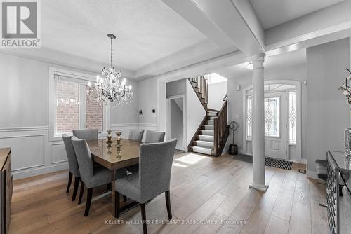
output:
M249 0L265 29L344 0Z

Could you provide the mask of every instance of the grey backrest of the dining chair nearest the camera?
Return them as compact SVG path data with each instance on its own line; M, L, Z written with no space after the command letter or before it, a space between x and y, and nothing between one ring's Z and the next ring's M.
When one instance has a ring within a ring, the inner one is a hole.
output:
M141 144L139 182L141 202L147 202L169 190L171 169L177 139L169 142Z

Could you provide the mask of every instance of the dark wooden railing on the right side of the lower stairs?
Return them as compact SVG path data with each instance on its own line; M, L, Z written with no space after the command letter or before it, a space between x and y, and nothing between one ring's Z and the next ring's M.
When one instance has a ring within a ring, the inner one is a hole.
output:
M217 118L213 119L213 154L219 156L224 148L225 140L228 135L227 122L227 99L224 99L222 109L218 113Z

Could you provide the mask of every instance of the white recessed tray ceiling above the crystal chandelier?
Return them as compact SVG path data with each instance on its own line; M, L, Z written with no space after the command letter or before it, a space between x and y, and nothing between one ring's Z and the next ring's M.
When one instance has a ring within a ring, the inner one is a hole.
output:
M41 1L41 46L131 69L160 60L207 38L160 0ZM206 48L204 48L206 49Z

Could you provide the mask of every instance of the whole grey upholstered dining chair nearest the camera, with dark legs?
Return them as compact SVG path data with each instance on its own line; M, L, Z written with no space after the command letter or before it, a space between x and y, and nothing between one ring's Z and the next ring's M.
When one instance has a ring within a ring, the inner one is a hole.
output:
M172 219L169 184L176 144L177 139L172 139L169 142L140 145L138 172L115 181L116 218L119 218L119 195L126 195L140 203L143 231L147 233L145 203L165 193L168 218Z

